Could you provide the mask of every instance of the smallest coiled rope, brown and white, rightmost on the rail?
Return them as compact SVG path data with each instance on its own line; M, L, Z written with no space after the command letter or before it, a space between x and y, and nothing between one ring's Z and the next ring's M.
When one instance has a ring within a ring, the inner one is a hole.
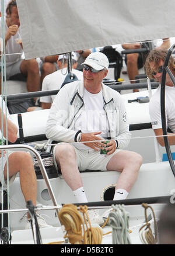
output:
M155 213L153 211L153 208L148 205L147 203L142 203L142 206L145 208L145 222L140 229L139 229L139 237L141 239L141 242L143 244L156 244L157 243L157 223L156 223L156 217ZM152 210L153 219L154 219L154 227L155 227L155 237L153 236L152 229L150 228L150 223L148 222L148 217L146 210L150 208Z

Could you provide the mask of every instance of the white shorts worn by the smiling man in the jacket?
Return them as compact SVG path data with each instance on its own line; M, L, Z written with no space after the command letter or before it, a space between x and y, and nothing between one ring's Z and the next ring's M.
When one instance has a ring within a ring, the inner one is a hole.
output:
M67 144L61 142L59 144ZM74 145L72 144L74 147ZM53 149L53 157L54 157L54 164L55 168L58 169L57 162L55 160L55 147ZM108 161L113 157L113 155L120 152L120 149L116 149L115 152L111 155L100 154L100 151L95 150L79 150L78 148L74 147L76 153L76 164L78 166L79 171L85 171L86 169L93 170L93 171L107 171L107 164Z

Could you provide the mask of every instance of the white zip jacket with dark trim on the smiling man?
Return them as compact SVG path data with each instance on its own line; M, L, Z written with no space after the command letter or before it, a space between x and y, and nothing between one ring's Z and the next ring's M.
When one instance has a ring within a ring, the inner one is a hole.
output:
M121 95L102 84L104 110L108 119L108 139L118 142L118 148L125 148L131 138L124 101ZM48 139L75 142L77 131L73 130L74 117L81 115L85 109L83 102L83 81L71 82L58 92L51 106L46 124ZM104 138L106 139L106 138Z

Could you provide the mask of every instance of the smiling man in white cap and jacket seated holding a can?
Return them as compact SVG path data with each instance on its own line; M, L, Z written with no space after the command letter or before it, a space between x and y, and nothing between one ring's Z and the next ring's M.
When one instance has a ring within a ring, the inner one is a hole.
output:
M88 202L80 171L121 172L114 194L114 200L119 200L127 198L142 164L141 155L122 150L128 146L131 134L121 95L102 83L107 68L106 55L89 54L83 63L83 81L60 90L47 120L46 136L62 141L53 150L56 168L61 169L78 203ZM107 154L100 154L106 146L103 139L110 140ZM97 210L89 210L88 215L91 223L104 223Z

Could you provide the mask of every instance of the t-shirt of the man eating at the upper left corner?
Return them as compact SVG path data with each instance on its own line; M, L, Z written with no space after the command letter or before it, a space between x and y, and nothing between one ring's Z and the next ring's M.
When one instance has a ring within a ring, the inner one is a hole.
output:
M2 20L0 18L0 34L1 34L1 29L2 29ZM7 30L8 30L8 26L5 22L5 34ZM9 66L15 63L16 61L20 60L20 58L22 57L23 49L20 46L20 44L16 42L17 39L20 39L20 38L21 37L20 37L20 27L19 27L15 36L10 37L5 47L6 54L10 54L10 55L6 55L6 66ZM16 53L19 53L19 54L16 54Z

